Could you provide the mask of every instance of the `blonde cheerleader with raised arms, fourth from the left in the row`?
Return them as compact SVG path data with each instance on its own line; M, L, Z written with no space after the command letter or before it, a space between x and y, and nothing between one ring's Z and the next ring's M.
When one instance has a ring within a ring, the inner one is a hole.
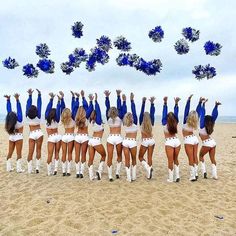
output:
M74 130L75 130L75 114L79 107L78 97L71 91L71 110L65 107L64 99L61 99L61 122L64 126L65 133L62 136L62 174L70 176L72 164L72 152L74 148Z

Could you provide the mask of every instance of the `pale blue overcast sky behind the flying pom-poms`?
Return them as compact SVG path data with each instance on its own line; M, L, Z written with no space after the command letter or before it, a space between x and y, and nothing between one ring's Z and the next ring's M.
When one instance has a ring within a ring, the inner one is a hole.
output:
M1 1L0 59L11 56L20 66L8 70L0 65L0 113L5 113L3 94L19 92L25 109L26 91L32 87L42 90L44 107L50 91L63 89L68 104L71 89L84 89L87 94L98 92L104 113L103 91L111 90L114 101L115 89L120 88L126 94L135 93L138 111L141 98L154 95L160 115L162 98L167 95L171 106L174 96L182 98L182 112L186 98L193 93L193 108L199 96L205 96L209 99L208 112L215 100L220 100L223 103L220 115L236 115L235 9L234 0ZM76 21L84 24L84 36L80 39L71 34L71 25ZM165 36L161 43L154 43L149 39L148 31L158 25L162 26ZM187 55L177 55L173 45L182 38L182 29L188 26L200 30L200 39L190 43ZM119 54L116 49L109 52L109 63L97 65L94 72L88 72L82 64L69 76L62 73L60 63L68 60L74 48L83 47L89 51L101 35L112 40L119 35L125 36L131 42L131 53L146 60L159 58L162 61L161 73L147 76L134 68L119 67L115 62ZM219 56L205 55L203 45L208 40L223 46ZM22 75L22 66L37 63L35 47L39 43L47 43L51 49L55 73L40 72L38 78L28 79ZM197 81L192 74L193 67L208 63L216 68L217 76L212 80Z

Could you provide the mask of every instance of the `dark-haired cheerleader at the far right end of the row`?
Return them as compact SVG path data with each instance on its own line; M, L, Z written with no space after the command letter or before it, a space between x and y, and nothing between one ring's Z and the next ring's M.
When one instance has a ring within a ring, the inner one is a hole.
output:
M204 178L207 178L206 165L204 162L204 156L209 153L211 163L212 163L212 178L217 179L217 168L216 168L216 160L215 160L215 151L216 151L216 142L213 138L211 138L211 134L214 131L215 121L218 117L218 106L221 105L220 102L215 102L215 107L212 111L211 116L205 115L205 103L208 100L206 99L203 102L201 107L201 115L200 115L200 131L199 135L202 140L202 148L200 150L200 162L201 169Z

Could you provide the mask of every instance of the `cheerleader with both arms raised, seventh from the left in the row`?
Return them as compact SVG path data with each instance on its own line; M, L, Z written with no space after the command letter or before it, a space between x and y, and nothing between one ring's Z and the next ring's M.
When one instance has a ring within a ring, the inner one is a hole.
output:
M110 134L107 138L107 168L108 168L108 177L110 181L113 181L112 177L112 159L114 147L116 147L117 152L117 165L116 165L116 178L120 178L120 169L122 162L122 136L121 136L121 125L124 114L127 112L126 107L126 97L122 96L123 104L121 105L121 90L116 90L117 93L117 107L110 107L109 96L111 92L106 90L104 92L106 96L105 105L106 105L106 117L107 123L110 128Z

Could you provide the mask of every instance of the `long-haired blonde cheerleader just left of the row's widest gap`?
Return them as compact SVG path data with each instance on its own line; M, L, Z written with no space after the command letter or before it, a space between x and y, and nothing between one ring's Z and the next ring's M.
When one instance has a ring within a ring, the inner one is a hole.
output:
M152 134L152 127L155 123L155 97L149 99L151 103L150 113L145 111L146 98L143 98L141 112L139 116L139 125L141 126L142 142L139 149L139 160L142 163L143 168L146 170L147 178L152 178L152 155L155 147L155 140ZM144 160L144 154L147 151L147 162Z

